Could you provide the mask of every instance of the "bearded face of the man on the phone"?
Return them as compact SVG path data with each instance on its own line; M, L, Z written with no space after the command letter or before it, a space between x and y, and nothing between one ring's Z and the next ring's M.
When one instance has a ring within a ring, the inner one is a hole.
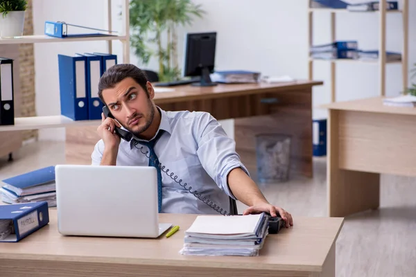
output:
M103 99L111 114L135 136L146 131L155 116L153 87L149 82L146 87L148 92L132 78L125 78L114 88L103 90Z

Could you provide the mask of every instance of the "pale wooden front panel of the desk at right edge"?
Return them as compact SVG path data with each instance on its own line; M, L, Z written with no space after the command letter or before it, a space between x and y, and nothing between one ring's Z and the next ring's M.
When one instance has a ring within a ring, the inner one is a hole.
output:
M339 166L416 176L416 116L339 111Z

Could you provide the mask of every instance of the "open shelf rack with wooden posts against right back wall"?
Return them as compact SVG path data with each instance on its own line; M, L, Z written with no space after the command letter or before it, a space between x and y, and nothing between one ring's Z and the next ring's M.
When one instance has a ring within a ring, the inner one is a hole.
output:
M351 12L347 9L333 9L333 8L309 8L309 51L313 45L313 13L314 12L330 12L331 13L331 42L336 41L336 14L339 12L348 12L349 14L368 14L376 12L379 14L379 59L378 60L348 60L348 59L335 59L335 60L322 60L313 59L309 57L309 80L313 80L313 62L323 61L331 64L331 102L336 102L336 63L338 62L356 62L356 63L369 63L379 65L379 82L380 82L380 96L385 96L385 66L386 64L401 64L402 69L402 86L403 91L408 87L408 0L402 0L400 10L386 10L387 0L379 0L380 9L376 11L368 12ZM308 1L309 7L311 7L311 0ZM400 7L399 7L400 8ZM403 25L403 48L401 51L401 61L388 62L385 56L385 21L386 15L390 13L400 13L402 17ZM310 56L310 55L309 55Z

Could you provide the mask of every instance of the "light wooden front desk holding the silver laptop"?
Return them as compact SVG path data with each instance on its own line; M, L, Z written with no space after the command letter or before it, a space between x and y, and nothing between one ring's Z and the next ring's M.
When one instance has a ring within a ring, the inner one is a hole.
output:
M178 253L196 215L161 214L160 222L181 229L158 239L64 237L56 216L51 209L48 226L1 244L1 277L335 276L336 239L344 221L295 217L291 229L268 235L257 257L210 257Z

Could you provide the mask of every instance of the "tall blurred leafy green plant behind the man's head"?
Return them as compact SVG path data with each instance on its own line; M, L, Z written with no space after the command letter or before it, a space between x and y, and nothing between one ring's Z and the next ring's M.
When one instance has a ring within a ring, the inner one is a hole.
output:
M177 27L191 24L205 13L191 0L131 0L130 43L146 66L151 57L158 61L159 80L180 78L177 61Z

